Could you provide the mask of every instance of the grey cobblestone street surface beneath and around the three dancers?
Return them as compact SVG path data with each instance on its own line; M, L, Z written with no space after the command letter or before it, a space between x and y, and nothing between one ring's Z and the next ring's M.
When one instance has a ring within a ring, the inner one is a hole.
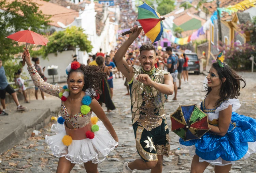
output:
M256 75L251 73L242 74L247 85L241 90L239 97L242 104L237 111L253 118L256 118ZM182 89L178 90L177 99L175 102L166 103L166 114L174 112L180 104L196 103L200 105L204 98L204 92L199 92L203 89L203 75L190 75L188 83L182 83ZM107 114L112 122L114 129L119 138L119 146L111 152L111 154L98 165L99 172L115 173L122 172L122 165L125 161L132 161L138 157L134 133L131 126L130 114L130 97L124 96L126 89L122 79L114 80L114 103L117 107L112 113ZM169 96L169 100L173 96ZM104 110L105 107L104 107ZM34 137L29 137L27 141L16 145L11 150L1 156L0 167L2 172L26 172L26 173L50 173L55 172L57 168L58 158L52 155L49 147L44 142L45 135L52 135L50 131L53 122L49 123L43 129L42 134ZM167 123L170 128L170 116L167 116ZM163 173L189 173L192 157L188 156L188 151L180 148L179 137L170 132L171 139L171 156L164 157ZM236 161L232 166L230 173L254 173L256 172L256 154L253 154L248 159ZM1 171L0 171L1 172ZM84 173L83 165L75 165L72 173ZM136 173L149 173L150 171L136 171ZM205 173L214 172L214 167L209 166Z

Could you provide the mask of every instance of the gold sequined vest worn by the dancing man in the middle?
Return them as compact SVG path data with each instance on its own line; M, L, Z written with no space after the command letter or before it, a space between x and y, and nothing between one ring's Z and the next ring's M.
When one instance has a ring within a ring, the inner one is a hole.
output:
M132 124L143 117L142 126L147 130L150 130L161 125L162 119L166 119L164 103L167 96L155 88L137 81L136 78L139 74L146 73L150 76L151 80L163 84L164 75L168 74L168 72L155 68L150 72L143 72L142 67L139 67L138 69L134 68L133 72L133 79L129 82L131 91Z

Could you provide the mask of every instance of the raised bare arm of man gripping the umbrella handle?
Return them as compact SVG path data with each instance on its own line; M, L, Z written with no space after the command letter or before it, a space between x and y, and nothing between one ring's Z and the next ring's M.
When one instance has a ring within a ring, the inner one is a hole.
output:
M114 59L117 65L117 68L124 74L124 76L130 81L134 75L133 67L128 65L127 61L125 60L124 56L130 47L130 45L137 39L140 35L142 28L133 27L130 30L129 38L124 42L124 44L117 50L115 53Z

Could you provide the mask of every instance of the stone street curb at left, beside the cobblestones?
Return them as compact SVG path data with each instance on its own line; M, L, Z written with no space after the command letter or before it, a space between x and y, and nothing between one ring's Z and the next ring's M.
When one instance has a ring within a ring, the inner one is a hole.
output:
M0 140L0 155L6 152L8 149L11 149L13 146L17 145L21 141L27 139L31 135L33 130L39 130L43 128L51 121L52 114L55 114L55 112L51 112L50 109L47 109L38 117L37 120L33 121L31 124L21 124L17 128L10 131L10 134Z

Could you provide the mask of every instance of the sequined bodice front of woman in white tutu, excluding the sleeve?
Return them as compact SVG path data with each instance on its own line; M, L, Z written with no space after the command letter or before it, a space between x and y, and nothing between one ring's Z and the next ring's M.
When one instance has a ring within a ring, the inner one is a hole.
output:
M64 102L61 101L61 107L60 107L60 115L66 120L68 121L74 129L79 129L79 128L82 128L84 126L86 126L87 124L89 124L90 122L90 119L91 119L91 111L84 115L81 113L81 111L76 114L76 115L69 115L65 105L64 105Z

